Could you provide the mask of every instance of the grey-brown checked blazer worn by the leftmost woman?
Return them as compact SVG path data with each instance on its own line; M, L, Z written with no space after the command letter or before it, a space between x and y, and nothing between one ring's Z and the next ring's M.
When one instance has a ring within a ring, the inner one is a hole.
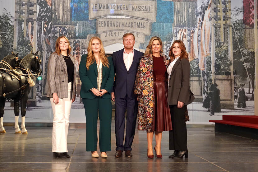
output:
M72 63L74 65L74 76L73 76L73 86L72 86L72 96L74 98L76 95L75 81L76 81L76 69L75 69L75 59L70 56ZM67 87L68 87L68 74L67 66L64 61L63 56L57 53L52 53L48 59L48 93L47 97L53 98L53 93L57 93L59 98L67 98Z

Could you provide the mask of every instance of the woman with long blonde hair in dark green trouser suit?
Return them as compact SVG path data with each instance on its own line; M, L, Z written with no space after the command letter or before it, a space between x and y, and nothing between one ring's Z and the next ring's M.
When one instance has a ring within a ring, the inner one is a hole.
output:
M86 151L99 157L97 152L97 122L99 112L99 150L101 157L107 158L111 151L111 91L114 82L114 66L111 56L105 55L99 37L92 37L88 44L88 54L81 56L79 74L81 79L82 102L86 117Z

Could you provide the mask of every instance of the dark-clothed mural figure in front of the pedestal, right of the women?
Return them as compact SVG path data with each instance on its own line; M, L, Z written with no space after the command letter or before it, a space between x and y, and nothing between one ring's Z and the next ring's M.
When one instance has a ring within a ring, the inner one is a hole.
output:
M221 105L220 105L220 91L218 89L218 84L211 84L210 91L209 91L209 98L210 98L210 116L214 115L214 112L221 112Z

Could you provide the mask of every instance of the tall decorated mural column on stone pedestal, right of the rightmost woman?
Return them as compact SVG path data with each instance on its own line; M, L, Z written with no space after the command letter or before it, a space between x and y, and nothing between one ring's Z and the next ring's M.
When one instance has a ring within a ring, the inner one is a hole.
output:
M212 1L210 12L212 83L220 90L221 109L234 109L231 2Z

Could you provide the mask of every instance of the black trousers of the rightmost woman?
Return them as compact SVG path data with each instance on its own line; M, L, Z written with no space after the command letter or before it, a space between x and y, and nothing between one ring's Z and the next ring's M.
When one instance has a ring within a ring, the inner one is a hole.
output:
M173 130L169 134L169 150L187 150L187 130L185 122L185 111L187 105L177 108L177 105L169 105Z

